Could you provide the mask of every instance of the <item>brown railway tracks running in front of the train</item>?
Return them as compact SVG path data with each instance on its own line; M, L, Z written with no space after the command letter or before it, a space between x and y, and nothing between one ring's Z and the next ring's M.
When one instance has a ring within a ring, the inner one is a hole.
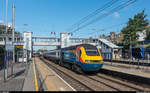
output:
M114 78L103 71L97 74L76 74L75 72L40 58L77 91L148 91L150 88Z

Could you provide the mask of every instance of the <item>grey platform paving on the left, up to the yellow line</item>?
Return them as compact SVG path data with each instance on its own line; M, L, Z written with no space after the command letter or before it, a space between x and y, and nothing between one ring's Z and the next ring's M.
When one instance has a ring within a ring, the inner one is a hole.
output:
M11 66L8 65L8 78L4 81L4 70L0 71L0 91L39 91L44 87L40 85L40 77L36 73L34 61L27 63L16 62L13 66L13 75L11 74Z

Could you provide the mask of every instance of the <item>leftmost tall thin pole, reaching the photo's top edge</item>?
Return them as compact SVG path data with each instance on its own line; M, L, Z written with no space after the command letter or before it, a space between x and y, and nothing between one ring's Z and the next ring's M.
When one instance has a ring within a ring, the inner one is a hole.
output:
M8 32L8 0L6 0L6 32L5 32L5 63L4 63L4 81L7 79L7 32Z

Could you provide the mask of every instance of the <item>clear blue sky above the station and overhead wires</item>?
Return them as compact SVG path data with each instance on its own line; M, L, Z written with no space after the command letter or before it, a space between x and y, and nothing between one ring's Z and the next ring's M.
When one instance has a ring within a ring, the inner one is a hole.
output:
M111 0L9 0L9 22L12 18L12 4L16 6L16 29L23 32L22 24L28 24L24 29L33 32L33 36L50 36L50 32L57 33L66 32L73 24L83 17L92 13L96 9L102 7ZM106 9L103 13L109 12L114 7L127 0L120 0L111 8ZM150 0L137 0L130 6L113 13L97 22L80 29L74 33L74 37L89 37L97 33L92 29L104 29L116 24L127 22L129 18L143 9L145 13L150 15ZM99 14L101 15L101 14ZM94 17L96 18L96 17ZM150 20L150 17L147 17ZM0 0L0 22L5 22L5 0ZM105 31L99 31L98 34L106 34L109 32L120 32L122 27L114 26ZM58 35L58 34L57 34Z

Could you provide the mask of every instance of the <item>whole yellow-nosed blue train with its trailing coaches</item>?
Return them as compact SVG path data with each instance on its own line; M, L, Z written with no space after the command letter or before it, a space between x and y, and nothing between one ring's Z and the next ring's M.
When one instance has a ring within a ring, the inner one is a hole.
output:
M43 57L61 66L67 65L79 73L98 72L103 66L100 49L91 44L80 44L59 50L51 50L44 53Z

